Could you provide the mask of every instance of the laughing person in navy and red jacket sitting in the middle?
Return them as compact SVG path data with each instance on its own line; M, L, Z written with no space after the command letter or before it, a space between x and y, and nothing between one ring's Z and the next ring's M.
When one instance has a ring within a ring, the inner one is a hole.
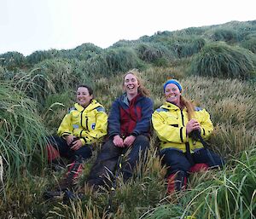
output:
M136 70L125 74L122 85L125 93L113 101L108 118L108 141L103 144L88 177L88 185L95 189L109 186L108 176L114 175L118 160L125 153L127 160L120 172L124 182L128 180L140 154L143 158L149 147L153 101L148 98L148 89L144 88Z

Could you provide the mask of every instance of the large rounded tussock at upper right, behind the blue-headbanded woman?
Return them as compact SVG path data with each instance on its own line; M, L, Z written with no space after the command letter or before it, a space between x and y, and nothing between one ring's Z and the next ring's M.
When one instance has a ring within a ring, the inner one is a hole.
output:
M190 73L218 78L250 78L255 70L255 55L224 43L205 46L191 63Z

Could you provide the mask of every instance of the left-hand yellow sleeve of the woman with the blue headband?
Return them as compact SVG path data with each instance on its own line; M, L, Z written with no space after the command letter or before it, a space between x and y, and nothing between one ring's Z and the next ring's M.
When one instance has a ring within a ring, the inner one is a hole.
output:
M183 143L187 141L186 127L174 127L170 124L166 124L165 119L160 115L160 112L154 111L152 115L152 124L160 141L175 143Z

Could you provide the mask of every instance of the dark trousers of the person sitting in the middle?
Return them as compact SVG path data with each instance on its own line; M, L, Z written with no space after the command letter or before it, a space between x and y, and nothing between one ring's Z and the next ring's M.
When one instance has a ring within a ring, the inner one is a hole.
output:
M139 159L139 154L141 151L142 156L147 154L147 149L149 147L149 139L145 135L138 135L136 140L133 142L131 147L116 147L113 144L113 140L107 141L102 146L102 151L96 158L95 164L90 170L90 176L88 177L88 184L92 185L104 185L107 180L107 175L114 175L116 170L117 162L121 154L127 154L125 163L122 164L121 172L124 177L124 181L132 176L134 167Z

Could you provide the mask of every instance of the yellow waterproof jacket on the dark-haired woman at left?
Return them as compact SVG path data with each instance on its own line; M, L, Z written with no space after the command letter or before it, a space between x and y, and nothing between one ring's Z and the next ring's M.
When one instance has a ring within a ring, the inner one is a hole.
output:
M83 145L91 144L107 135L107 126L108 115L96 100L92 100L86 108L75 103L63 118L58 135L75 135Z

